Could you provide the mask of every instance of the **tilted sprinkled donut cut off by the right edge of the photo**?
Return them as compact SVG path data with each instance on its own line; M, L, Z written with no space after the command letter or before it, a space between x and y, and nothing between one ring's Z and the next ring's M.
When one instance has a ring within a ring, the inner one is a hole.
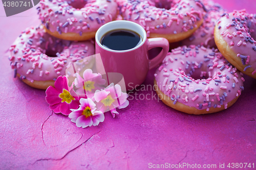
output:
M245 10L223 15L215 26L215 42L223 56L256 79L256 14Z

